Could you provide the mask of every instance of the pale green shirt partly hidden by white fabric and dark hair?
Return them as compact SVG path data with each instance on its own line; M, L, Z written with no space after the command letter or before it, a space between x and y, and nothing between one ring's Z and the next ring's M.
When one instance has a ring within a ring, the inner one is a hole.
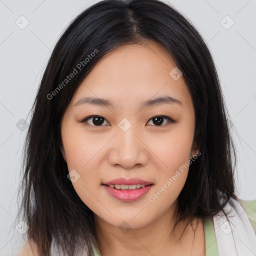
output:
M241 200L239 199L239 203L244 209L251 226L256 234L256 200ZM204 228L204 236L205 236L205 256L218 256L218 248L216 242L216 236L213 226L213 219L207 218L204 220L203 224ZM92 245L92 256L101 256L98 245Z

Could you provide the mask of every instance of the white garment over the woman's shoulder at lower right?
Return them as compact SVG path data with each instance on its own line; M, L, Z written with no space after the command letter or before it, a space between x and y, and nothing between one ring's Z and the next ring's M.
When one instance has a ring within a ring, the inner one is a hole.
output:
M223 210L228 218L222 211L213 216L219 256L256 256L256 235L241 205L231 198Z

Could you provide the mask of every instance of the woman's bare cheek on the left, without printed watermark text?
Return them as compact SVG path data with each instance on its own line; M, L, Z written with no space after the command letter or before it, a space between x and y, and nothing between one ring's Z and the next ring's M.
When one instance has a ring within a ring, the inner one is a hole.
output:
M75 170L75 182L72 185L81 200L93 208L94 196L97 197L95 187L100 185L99 168L96 166L100 162L98 151L105 142L95 136L88 136L80 125L68 122L63 125L61 137L68 171Z

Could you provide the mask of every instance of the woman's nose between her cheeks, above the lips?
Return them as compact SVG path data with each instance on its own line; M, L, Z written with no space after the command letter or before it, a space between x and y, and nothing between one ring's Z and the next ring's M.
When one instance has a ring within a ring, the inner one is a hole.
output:
M144 166L149 160L149 149L143 140L143 136L132 126L126 131L119 129L108 154L109 164L125 169Z

